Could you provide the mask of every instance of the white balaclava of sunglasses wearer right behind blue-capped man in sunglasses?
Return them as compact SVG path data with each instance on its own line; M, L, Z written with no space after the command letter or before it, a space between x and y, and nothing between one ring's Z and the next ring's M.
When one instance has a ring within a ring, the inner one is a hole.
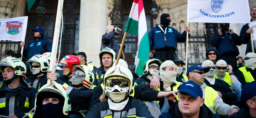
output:
M206 65L211 65L211 66L214 66L214 63L211 61L211 60L206 60L202 63L202 67L205 67ZM204 73L205 74L205 79L211 84L211 85L214 85L215 84L215 72L216 70L215 69L210 69L209 72L207 73Z

